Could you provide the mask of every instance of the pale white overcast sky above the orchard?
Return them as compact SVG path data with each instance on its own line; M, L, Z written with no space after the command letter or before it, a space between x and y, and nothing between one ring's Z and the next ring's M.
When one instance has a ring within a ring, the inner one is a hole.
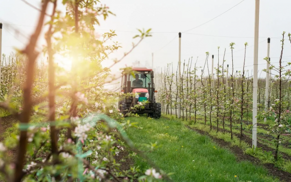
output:
M40 7L41 0L27 1ZM109 6L116 16L111 15L106 21L100 19L100 26L96 27L96 31L102 34L109 29L116 30L118 36L113 41L120 42L122 46L103 62L104 66L111 65L114 58L122 57L131 49L132 42L138 41L132 39L134 35L138 34L137 28L152 28L153 32L152 37L143 40L128 56L115 65L113 72L118 72L126 65L131 66L136 61L140 61L140 66L149 68L152 53L154 53L155 69L164 70L167 64L173 63L174 70L176 70L178 32L182 32L182 61L188 62L189 58L193 57L195 62L198 57L197 67L202 67L206 52L209 52L210 55L214 55L214 67L217 67L217 47L219 46L219 60L223 60L226 48L225 64L229 64L231 69L229 43L235 42L234 71L240 71L243 66L244 43L248 42L245 69L249 72L253 69L255 0L101 0L101 3ZM0 0L0 4L0 22L3 23L2 53L9 55L14 48L21 49L27 43L35 29L39 12L22 0ZM291 0L260 0L260 77L266 75L261 70L266 68L266 61L263 58L267 56L268 37L271 38L271 62L277 65L276 62L278 62L281 52L282 32L286 31L286 36L291 32L290 7ZM64 10L63 8L60 3L58 9ZM283 61L291 62L291 42L287 37L285 41ZM41 40L39 47L44 43L44 40ZM209 64L211 65L211 58ZM201 73L200 68L197 73Z

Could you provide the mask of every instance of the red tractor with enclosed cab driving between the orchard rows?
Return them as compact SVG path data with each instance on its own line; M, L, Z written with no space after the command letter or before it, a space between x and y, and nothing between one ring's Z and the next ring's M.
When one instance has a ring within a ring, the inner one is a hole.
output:
M131 93L131 97L119 97L119 109L123 114L129 111L137 114L147 114L151 118L161 117L161 103L156 102L154 71L147 68L133 68L131 73L122 72L121 92ZM145 102L146 101L146 102ZM134 105L142 104L143 108L132 109Z

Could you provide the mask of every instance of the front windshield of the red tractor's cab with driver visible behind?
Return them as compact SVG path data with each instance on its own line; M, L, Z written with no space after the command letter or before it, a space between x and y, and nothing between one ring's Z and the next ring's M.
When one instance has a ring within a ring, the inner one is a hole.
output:
M150 83L150 73L137 73L129 76L131 87L148 87Z

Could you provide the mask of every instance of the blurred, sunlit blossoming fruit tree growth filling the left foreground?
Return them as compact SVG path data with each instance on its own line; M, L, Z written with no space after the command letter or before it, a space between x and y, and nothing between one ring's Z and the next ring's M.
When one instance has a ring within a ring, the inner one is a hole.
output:
M46 33L47 47L44 49L49 58L49 78L44 78L49 81L49 93L43 92L41 96L36 96L37 87L34 87L37 85L36 60L40 53L36 49L36 42L41 36L50 3L53 8L46 24L49 28ZM11 104L9 97L0 102L1 108L10 111L20 120L19 140L17 136L11 136L9 145L0 143L0 172L5 176L5 180L21 182L36 179L38 181L114 179L121 182L124 179L133 181L137 178L138 170L121 171L113 158L123 150L119 143L115 142L116 136L124 140L129 149L133 146L124 133L119 132L129 127L129 124L119 125L109 117L120 118L119 115L122 115L110 103L110 99L119 93L104 91L102 85L116 79L109 78L110 68L127 56L144 38L150 36L150 29L139 30L141 34L135 36L139 41L132 49L121 59L115 60L112 66L103 68L101 62L120 46L110 42L116 35L114 31L103 34L103 40L95 35L94 25L99 24L97 16L106 19L112 14L107 6L100 3L96 7L96 3L97 0L63 0L66 12L62 14L56 10L57 0L42 1L35 31L27 46L20 51L27 57L26 67L23 69L25 70L23 97L18 103L22 107L20 109ZM54 56L57 54L74 58L71 71L65 71L54 64ZM8 77L8 80L11 81L12 76ZM65 88L62 88L63 86ZM37 104L43 98L48 98L49 107L40 112L41 109ZM64 102L59 104L59 100L62 99ZM104 114L82 118L90 112ZM33 114L48 115L49 122L32 124L30 118ZM97 123L100 120L108 125L104 123L105 125L102 124L104 127L101 127L101 124ZM45 124L49 126L44 127ZM105 129L100 132L100 128ZM16 146L18 148L16 165L13 168L14 163L8 160L6 150Z

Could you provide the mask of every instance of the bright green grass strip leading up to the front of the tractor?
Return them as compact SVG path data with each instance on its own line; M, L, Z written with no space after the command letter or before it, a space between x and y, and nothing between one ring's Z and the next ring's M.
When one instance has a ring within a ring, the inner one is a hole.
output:
M170 119L129 118L143 129L130 128L130 139L145 152L159 168L174 172L171 176L177 182L276 182L265 168L250 162L237 162L234 154L218 147L209 137L200 135L181 122ZM149 152L146 144L160 146ZM143 170L149 165L142 158L135 159L136 166ZM237 176L237 177L235 177Z

